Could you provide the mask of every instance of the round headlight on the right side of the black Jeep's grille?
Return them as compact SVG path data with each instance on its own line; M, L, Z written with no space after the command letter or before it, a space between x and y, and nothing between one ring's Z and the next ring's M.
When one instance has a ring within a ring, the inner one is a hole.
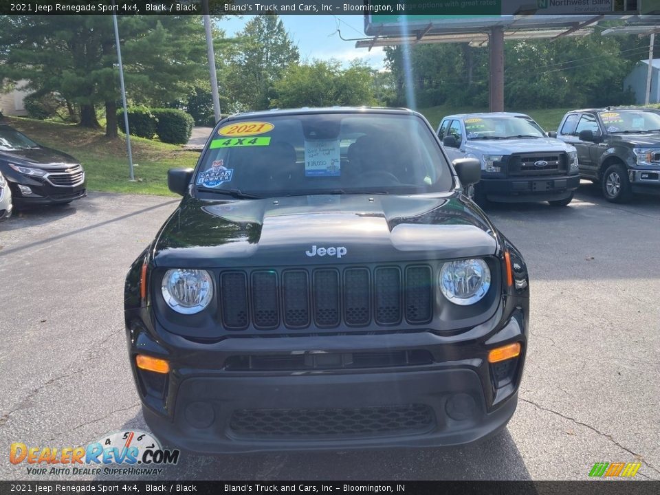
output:
M490 287L490 270L482 259L445 263L440 270L440 290L452 303L467 306L483 299Z

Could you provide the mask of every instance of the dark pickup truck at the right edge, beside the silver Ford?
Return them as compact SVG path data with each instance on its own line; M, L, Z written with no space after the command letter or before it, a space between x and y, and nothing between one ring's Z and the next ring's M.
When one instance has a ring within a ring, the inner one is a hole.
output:
M574 110L557 137L577 148L580 177L600 184L608 201L660 192L660 112L644 108Z

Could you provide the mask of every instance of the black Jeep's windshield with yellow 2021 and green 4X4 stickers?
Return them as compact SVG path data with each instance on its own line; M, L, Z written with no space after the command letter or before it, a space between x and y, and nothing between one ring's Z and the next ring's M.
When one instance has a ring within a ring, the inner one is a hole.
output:
M403 113L305 113L223 122L197 167L201 197L421 194L453 186L428 124Z

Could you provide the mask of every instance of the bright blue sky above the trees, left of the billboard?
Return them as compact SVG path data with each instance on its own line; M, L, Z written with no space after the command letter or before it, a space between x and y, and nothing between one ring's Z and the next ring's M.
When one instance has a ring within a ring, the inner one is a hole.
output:
M223 17L217 23L218 28L225 30L228 36L233 36L243 30L245 23L252 16ZM348 65L355 58L360 58L374 69L383 69L383 49L375 47L368 52L366 48L355 48L355 41L342 41L342 38L366 38L364 34L364 17L361 15L329 16L329 15L283 15L282 19L291 39L298 45L301 60L320 58L336 60Z

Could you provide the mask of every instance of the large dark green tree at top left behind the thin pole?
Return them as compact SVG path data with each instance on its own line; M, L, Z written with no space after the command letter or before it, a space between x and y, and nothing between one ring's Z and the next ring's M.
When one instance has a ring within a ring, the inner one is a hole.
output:
M201 19L120 16L126 93L134 102L185 96L204 71ZM117 135L117 54L109 16L1 16L0 80L29 80L28 89L60 94L80 112L80 125Z

